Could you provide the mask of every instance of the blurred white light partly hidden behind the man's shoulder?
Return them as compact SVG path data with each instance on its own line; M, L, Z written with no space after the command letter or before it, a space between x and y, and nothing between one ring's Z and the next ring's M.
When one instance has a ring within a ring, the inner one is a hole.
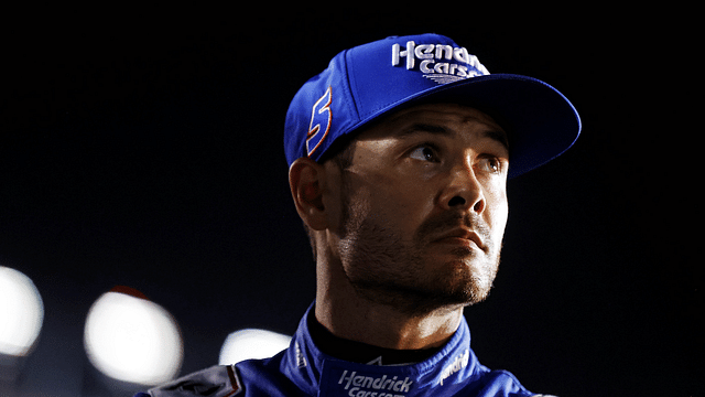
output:
M248 358L267 358L289 347L291 336L267 330L247 329L228 335L220 348L220 365Z

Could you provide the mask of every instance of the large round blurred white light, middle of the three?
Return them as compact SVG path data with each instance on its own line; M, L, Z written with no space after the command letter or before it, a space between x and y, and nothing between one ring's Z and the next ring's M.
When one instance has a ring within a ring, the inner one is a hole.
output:
M129 288L116 288L93 304L84 344L98 371L113 379L141 385L174 378L184 354L181 332L172 315Z

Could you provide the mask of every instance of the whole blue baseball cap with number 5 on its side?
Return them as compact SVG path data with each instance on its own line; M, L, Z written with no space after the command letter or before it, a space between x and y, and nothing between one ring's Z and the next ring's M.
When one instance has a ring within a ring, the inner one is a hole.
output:
M392 36L343 51L301 87L286 112L286 161L318 161L336 139L370 121L436 101L478 108L502 126L509 178L563 153L581 133L573 105L546 83L492 75L443 35Z

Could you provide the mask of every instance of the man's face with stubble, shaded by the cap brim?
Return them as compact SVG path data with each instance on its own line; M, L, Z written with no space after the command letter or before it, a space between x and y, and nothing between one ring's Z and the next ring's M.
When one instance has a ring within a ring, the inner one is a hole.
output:
M412 312L484 300L508 216L503 129L474 108L421 105L350 144L329 230L356 290Z

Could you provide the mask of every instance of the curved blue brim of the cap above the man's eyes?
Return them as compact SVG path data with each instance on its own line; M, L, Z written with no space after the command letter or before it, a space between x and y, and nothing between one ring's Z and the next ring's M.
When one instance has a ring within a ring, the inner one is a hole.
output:
M362 124L408 106L452 101L471 106L496 119L509 138L509 174L514 178L566 151L581 133L581 118L571 101L539 79L492 74L421 92L380 109Z

